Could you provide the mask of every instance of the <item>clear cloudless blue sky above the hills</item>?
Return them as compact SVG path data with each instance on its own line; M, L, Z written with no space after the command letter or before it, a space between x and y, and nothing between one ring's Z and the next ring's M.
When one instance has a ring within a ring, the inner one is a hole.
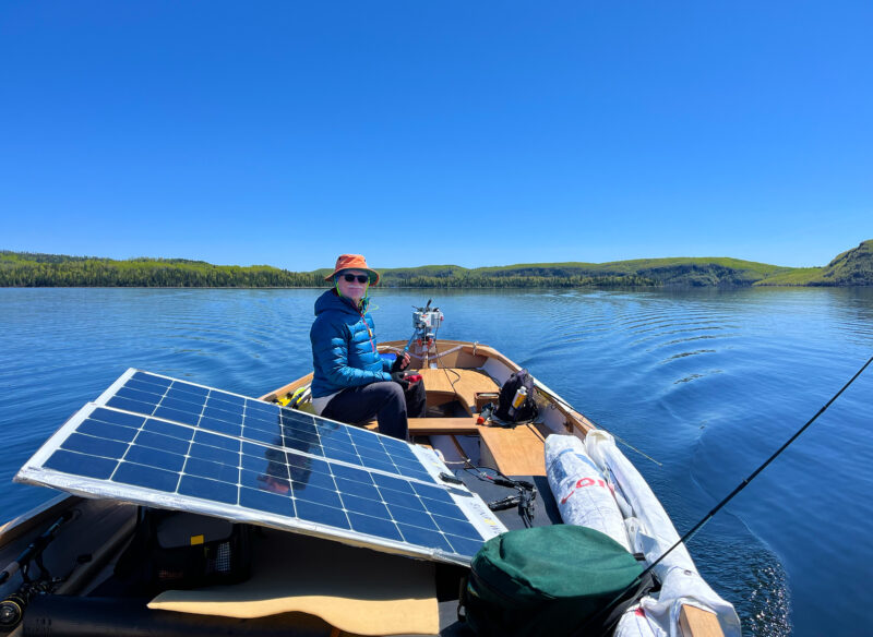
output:
M289 269L873 239L873 3L0 3L0 249Z

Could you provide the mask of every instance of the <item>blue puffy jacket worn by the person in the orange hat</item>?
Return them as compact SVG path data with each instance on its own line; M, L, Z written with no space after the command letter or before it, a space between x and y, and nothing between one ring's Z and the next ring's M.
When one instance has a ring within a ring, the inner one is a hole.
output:
M351 301L327 290L315 301L312 341L312 397L330 396L346 387L391 381L391 364L375 349L373 318L367 302L359 312ZM368 329L369 327L369 329Z

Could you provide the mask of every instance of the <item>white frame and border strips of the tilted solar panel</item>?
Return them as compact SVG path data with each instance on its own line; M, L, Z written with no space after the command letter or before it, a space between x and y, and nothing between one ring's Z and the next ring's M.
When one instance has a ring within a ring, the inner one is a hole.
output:
M51 457L51 455L60 448L61 444L64 441L67 441L68 436L71 433L75 432L79 425L83 421L88 419L96 409L108 409L118 413L127 413L135 417L151 418L156 421L167 422L175 424L177 426L184 426L193 431L199 431L196 426L190 424L174 422L167 419L156 418L154 416L125 411L122 409L107 406L107 402L110 400L112 396L116 395L116 392L119 388L123 387L127 381L130 380L137 372L140 372L140 370L135 369L128 370L127 372L124 372L124 374L122 374L121 377L118 378L118 381L116 381L109 388L107 388L106 392L104 392L96 401L88 402L76 413L74 413L61 428L58 429L58 431L55 434L52 434L52 436L36 452L36 454L34 454L34 456L27 462L25 462L25 465L15 476L15 481L29 484L44 485L55 489L61 489L63 491L73 493L75 495L81 495L84 497L106 497L106 498L132 502L134 504L141 504L146 506L155 506L159 508L200 513L204 515L211 515L215 517L230 519L238 522L248 522L265 527L272 527L285 531L300 532L319 538L340 541L343 543L350 545L364 546L388 553L396 553L412 557L433 560L439 562L447 562L461 565L469 564L468 556L461 555L457 553L450 553L447 551L438 548L424 546L421 544L412 544L409 542L396 541L390 538L382 538L378 536L370 536L368 533L362 533L354 530L345 530L328 525L320 525L313 521L301 519L299 517L278 515L262 509L253 509L241 506L239 504L225 504L220 502L203 500L193 495L178 495L175 493L170 494L167 492L162 492L154 489L137 486L133 484L118 484L110 482L108 480L98 480L83 476L75 476L72 473L67 473L63 471L45 467L44 462L48 460L48 458ZM163 377L167 381L177 381L176 378L171 378L170 376L162 376L159 374L153 374L151 372L143 372L143 373ZM211 387L204 385L196 385L195 383L190 383L188 381L178 381L178 382L186 383L188 385L195 385L203 389L215 390ZM253 398L241 396L239 394L231 394L229 392L224 392L224 390L220 390L220 393L230 394L231 396L236 396L237 398L254 400ZM263 402L263 405L271 405L271 404ZM278 406L275 407L276 409L280 409ZM328 419L322 419L320 417L313 417L313 418L316 418L321 421L328 421ZM336 421L330 421L330 422L334 422L339 426L350 426L344 423L337 423ZM376 432L368 432L368 433L375 436L382 435ZM232 436L227 436L227 437L232 438ZM264 447L271 446L264 443L258 443L258 444ZM309 454L306 454L298 449L289 449L284 445L276 446L275 448L286 453L295 453L301 456L310 456ZM430 484L431 486L439 486L443 489L447 494L451 495L452 501L466 516L467 521L481 536L482 541L495 537L506 530L505 527L500 522L500 520L493 515L493 513L488 508L485 502L482 502L482 500L477 494L471 493L465 486L446 485L442 482L442 480L440 480L439 478L440 473L450 472L450 470L432 449L422 447L420 445L409 445L409 448L411 449L416 458L418 458L418 460L421 462L421 466L424 468L424 470L432 478L433 481L431 483L424 482L422 480L417 480L415 478L403 477L396 473L380 471L379 469L367 469L367 470L370 471L371 473L382 473L385 476L391 476L393 478L399 478L408 482ZM331 459L328 461L335 465L345 465L354 467L354 465L349 465L342 460ZM355 467L355 468L360 469L360 467Z

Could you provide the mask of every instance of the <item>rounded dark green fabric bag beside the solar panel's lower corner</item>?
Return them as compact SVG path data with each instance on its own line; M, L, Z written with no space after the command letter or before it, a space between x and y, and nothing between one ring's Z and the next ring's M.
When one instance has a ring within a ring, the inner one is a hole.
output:
M586 623L586 634L597 635L620 615L601 611L642 572L621 544L587 527L509 531L474 556L462 606L480 637L560 637Z

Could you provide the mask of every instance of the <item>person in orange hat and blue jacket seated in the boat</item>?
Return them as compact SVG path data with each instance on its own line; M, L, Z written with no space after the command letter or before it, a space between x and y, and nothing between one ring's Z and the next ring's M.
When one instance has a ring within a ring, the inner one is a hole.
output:
M342 254L324 280L333 280L334 287L315 301L309 333L315 413L348 423L375 417L380 433L407 440L407 417L423 417L427 409L424 386L406 380L407 352L390 364L376 350L367 308L379 273L360 254Z

